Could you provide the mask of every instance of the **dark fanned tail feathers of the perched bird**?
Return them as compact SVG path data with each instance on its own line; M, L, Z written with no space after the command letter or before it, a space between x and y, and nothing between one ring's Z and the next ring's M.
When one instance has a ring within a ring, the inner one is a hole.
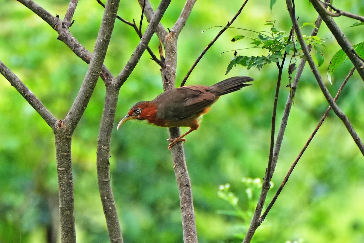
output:
M212 87L213 93L217 96L223 94L229 94L231 92L240 90L242 87L252 85L251 83L246 83L253 81L253 78L250 77L232 77L225 79L219 83L214 84ZM211 90L212 91L212 90ZM210 91L210 92L211 92Z

